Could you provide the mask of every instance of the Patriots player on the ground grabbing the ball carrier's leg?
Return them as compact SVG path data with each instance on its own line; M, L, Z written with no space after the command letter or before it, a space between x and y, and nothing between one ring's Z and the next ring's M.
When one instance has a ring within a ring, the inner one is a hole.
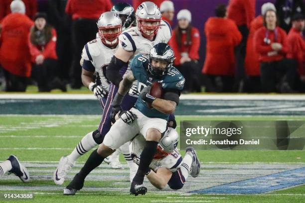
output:
M160 139L157 152L150 164L151 172L146 177L158 189L163 189L168 185L173 190L179 190L184 186L189 174L194 178L199 175L200 162L195 150L187 147L182 160L176 148L178 137L175 129L168 128ZM137 135L130 144L130 154L138 165L145 141L143 135Z

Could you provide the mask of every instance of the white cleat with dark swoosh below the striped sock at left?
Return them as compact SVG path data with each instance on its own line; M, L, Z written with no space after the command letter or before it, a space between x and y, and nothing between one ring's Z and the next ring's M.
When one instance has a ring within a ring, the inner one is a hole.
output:
M63 156L60 158L58 167L53 173L53 180L56 185L62 185L65 181L67 173L71 171L75 162L70 162L68 157Z

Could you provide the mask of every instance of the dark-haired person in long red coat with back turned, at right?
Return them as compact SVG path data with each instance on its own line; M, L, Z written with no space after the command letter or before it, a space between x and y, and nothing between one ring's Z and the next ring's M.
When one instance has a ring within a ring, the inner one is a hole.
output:
M233 20L227 19L225 5L215 9L216 17L205 23L206 57L202 73L207 92L232 92L235 74L234 48L242 36Z

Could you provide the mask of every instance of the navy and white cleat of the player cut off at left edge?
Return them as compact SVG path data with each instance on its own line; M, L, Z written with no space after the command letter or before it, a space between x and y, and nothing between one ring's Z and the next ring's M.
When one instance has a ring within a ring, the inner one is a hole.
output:
M29 182L29 173L26 168L19 162L16 156L10 155L7 158L11 163L11 170L8 173L13 173L20 178L23 183Z

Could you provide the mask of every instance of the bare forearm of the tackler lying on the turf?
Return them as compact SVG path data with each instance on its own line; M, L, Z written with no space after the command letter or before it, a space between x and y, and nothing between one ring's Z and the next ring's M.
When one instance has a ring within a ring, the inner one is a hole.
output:
M146 176L151 184L157 189L163 189L167 185L169 179L171 178L172 172L165 168L159 168L157 172L151 170L151 172Z

